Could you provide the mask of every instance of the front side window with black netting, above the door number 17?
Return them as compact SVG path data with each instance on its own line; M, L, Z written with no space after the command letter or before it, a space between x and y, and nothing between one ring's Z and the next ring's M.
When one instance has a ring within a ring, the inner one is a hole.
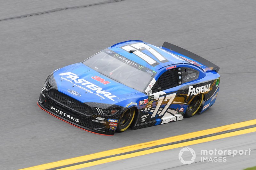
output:
M156 81L152 87L152 93L158 92L158 88L161 90L170 89L177 86L177 69L172 69L164 72Z

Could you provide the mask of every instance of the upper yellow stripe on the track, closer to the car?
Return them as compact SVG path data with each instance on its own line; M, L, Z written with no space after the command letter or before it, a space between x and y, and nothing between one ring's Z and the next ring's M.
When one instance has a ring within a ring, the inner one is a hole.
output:
M60 160L57 162L28 167L25 169L26 170L27 169L29 169L29 170L50 169L50 168L55 168L55 167L59 167L59 166L65 166L65 165L70 165L70 164L74 164L74 163L78 163L78 162L88 161L88 160L92 160L92 159L96 159L96 158L102 158L102 157L106 157L106 156L121 154L121 153L129 152L129 151L135 151L135 150L148 148L148 147L152 147L152 146L157 146L157 145L161 145L161 144L177 142L177 141L191 139L191 138L200 137L200 136L204 136L204 135L210 135L210 134L223 132L223 131L227 131L227 130L232 130L232 129L236 129L236 128L242 128L242 127L255 125L255 124L256 124L256 119L244 121L244 122L240 122L240 123L234 123L234 124L230 124L230 125L225 125L225 126L221 126L221 127L217 127L217 128L201 130L201 131L192 132L192 133L188 133L188 134L184 134L184 135L168 137L168 138L164 138L164 139L160 139L160 140L156 140L156 141L139 143L139 144L126 146L126 147L122 147L122 148L117 148L117 149L113 149L113 150L109 150L109 151L102 151L102 152L85 155L85 156L80 156L80 157L76 157L76 158ZM212 137L214 137L214 136L212 136ZM170 145L170 146L173 146L173 145ZM180 147L182 147L182 146L180 146ZM122 156L124 156L124 155L122 155ZM105 159L102 159L102 160L105 160ZM102 161L102 160L100 160L100 161Z

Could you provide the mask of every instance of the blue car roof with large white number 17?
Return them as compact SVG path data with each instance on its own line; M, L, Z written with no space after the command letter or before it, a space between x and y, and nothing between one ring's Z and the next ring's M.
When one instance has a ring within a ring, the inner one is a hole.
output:
M108 49L154 71L170 65L188 64L186 60L165 50L163 47L156 47L140 40L117 43ZM130 50L134 50L134 52L131 51L132 53L130 53Z

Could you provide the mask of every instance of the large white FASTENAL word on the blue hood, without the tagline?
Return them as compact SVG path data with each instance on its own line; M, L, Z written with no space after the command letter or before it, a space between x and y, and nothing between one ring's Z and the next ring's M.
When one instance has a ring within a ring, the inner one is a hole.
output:
M105 97L108 97L110 100L115 101L113 99L114 97L116 97L115 95L112 95L112 93L107 92L106 90L102 90L102 88L100 88L99 86L96 86L95 84L92 84L89 81L86 81L84 79L79 79L79 77L74 73L67 72L67 73L60 73L60 75L67 75L66 78L73 80L75 83L81 83L81 85L94 90L97 94L103 94Z

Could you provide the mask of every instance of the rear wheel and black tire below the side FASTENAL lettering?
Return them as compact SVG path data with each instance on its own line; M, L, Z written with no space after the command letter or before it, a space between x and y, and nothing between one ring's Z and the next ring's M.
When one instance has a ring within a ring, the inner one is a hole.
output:
M196 112L200 109L200 106L203 102L203 94L196 95L193 97L188 103L188 109L184 114L184 117L190 118L196 114Z

